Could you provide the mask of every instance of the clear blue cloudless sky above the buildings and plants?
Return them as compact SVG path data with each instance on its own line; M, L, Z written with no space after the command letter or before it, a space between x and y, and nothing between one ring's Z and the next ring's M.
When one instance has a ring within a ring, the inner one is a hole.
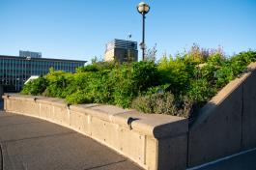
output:
M103 57L113 39L141 42L139 0L0 0L0 54L40 51L43 57ZM147 0L146 43L157 58L198 43L228 55L256 49L256 0ZM141 55L139 53L139 55ZM139 57L140 58L140 57Z

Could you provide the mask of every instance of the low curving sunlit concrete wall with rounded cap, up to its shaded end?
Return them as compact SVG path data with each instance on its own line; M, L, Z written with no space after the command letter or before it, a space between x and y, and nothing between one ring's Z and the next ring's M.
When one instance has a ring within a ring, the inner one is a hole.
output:
M7 94L5 110L72 128L148 170L185 169L188 123L111 105L68 105L63 99ZM130 124L129 124L130 123Z

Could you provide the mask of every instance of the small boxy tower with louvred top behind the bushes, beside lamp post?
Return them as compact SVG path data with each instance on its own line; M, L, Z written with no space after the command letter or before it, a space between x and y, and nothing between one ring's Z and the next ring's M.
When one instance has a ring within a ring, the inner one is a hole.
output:
M138 61L137 42L114 39L106 44L105 61Z

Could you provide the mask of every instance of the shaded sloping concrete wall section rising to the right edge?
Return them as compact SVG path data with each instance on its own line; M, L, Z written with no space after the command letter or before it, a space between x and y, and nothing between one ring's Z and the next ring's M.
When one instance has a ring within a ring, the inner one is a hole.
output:
M224 87L188 132L188 166L256 147L256 63Z

